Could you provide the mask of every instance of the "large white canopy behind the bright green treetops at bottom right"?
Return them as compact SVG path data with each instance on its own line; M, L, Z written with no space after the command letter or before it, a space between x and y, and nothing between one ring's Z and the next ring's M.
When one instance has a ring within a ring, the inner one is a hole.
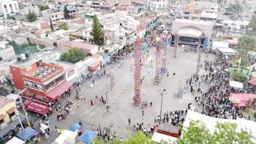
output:
M209 129L209 132L211 133L214 132L217 122L222 124L224 124L225 122L234 123L234 124L237 124L237 129L236 129L237 132L239 132L241 128L243 128L243 130L252 131L252 134L254 135L254 137L256 137L256 122L253 122L253 121L248 121L248 120L239 119L239 118L237 118L237 120L219 119L216 117L206 116L206 115L199 114L198 112L188 110L183 127L190 126L191 120L194 120L194 121L199 120L204 122L206 127Z

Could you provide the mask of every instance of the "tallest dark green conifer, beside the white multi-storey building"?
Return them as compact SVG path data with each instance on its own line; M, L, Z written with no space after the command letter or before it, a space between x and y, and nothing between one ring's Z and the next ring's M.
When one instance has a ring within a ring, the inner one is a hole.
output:
M104 34L101 29L101 24L96 15L93 16L93 40L97 45L103 45L104 43Z

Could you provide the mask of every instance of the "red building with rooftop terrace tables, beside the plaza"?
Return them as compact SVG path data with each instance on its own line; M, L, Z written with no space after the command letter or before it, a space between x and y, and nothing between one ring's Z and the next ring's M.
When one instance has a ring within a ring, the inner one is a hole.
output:
M58 97L71 89L71 84L65 80L65 70L62 66L47 64L39 59L33 60L31 63L29 61L15 63L9 67L16 89L25 89L23 97L29 99L31 101L29 103L38 102L38 105L35 104L36 106L48 105L49 102L57 100Z

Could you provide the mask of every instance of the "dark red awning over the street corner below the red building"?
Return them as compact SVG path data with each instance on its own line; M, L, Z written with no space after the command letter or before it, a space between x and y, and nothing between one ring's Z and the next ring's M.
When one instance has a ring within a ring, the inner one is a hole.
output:
M27 100L25 101L25 107L28 110L37 112L38 114L45 114L49 111L49 107L47 105L39 104L38 102Z

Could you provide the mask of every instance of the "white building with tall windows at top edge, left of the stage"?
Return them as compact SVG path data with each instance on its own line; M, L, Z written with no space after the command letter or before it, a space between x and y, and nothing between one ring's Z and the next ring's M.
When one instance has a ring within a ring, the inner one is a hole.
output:
M168 0L146 0L146 9L153 12L165 12Z

